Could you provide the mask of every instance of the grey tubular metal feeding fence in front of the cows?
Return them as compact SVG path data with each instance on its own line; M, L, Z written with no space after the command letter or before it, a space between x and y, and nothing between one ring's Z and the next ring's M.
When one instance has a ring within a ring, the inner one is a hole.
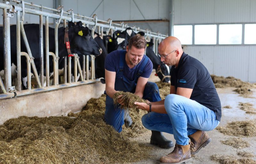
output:
M10 2L15 5L11 5ZM26 8L25 5L33 6L38 8L30 9ZM120 30L124 31L128 25L124 22L118 24L113 23L111 19L108 21L98 20L97 15L94 14L93 17L86 17L84 15L74 14L73 10L64 11L63 6L59 6L57 9L52 9L42 5L37 5L33 3L27 3L19 0L3 0L0 3L0 8L3 9L3 47L4 47L4 82L0 77L0 99L12 98L16 96L23 96L33 93L45 92L49 90L57 90L61 88L73 87L77 85L88 84L92 82L98 82L99 79L95 79L95 68L94 68L94 55L91 56L91 77L89 78L89 56L83 55L83 65L81 67L79 62L79 57L74 54L74 82L71 81L71 57L64 58L64 76L63 84L59 84L59 49L58 49L58 28L60 24L66 27L67 21L78 22L81 21L84 26L92 26L92 37L94 32L97 31L99 35L103 36L103 31L106 31L106 35L113 35L113 31ZM43 11L44 10L44 11ZM48 12L47 12L48 11ZM51 12L55 13L51 13ZM21 13L20 13L21 12ZM30 50L30 45L26 37L24 30L25 14L34 14L39 16L39 44L40 44L40 77L37 74L36 65L34 63L33 54ZM10 18L16 15L16 42L17 42L17 88L12 86L12 75L11 75L11 40L10 40ZM43 17L45 17L45 22L43 22ZM55 21L55 52L49 52L49 18ZM43 24L45 24L45 56L44 56L44 41L43 41ZM153 39L153 51L157 52L157 44L162 39L167 37L167 35L162 35L160 33L154 33L149 30L143 30L139 27L131 27L135 33L137 31L142 31L145 33L147 39ZM26 45L27 52L21 52L20 47L20 34ZM27 59L27 90L21 90L21 56L25 56ZM50 86L50 74L49 74L49 56L53 59L53 85ZM45 70L46 70L46 85L44 86L44 58L45 58ZM85 60L86 59L86 60ZM68 60L68 66L67 66ZM31 89L31 67L36 78L38 88ZM68 69L67 69L68 68ZM80 74L81 81L78 81L77 68Z

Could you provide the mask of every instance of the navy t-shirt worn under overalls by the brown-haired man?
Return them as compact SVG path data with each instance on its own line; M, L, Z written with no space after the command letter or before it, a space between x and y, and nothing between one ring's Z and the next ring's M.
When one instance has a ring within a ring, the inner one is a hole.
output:
M108 54L108 56L105 59L105 69L111 72L117 72L119 69L119 61L120 61L120 55L124 55L125 59L125 50L116 50L112 51ZM129 66L124 61L124 76L129 79L130 81L133 81L135 79L136 73L139 71L140 65L145 60L146 55L143 55L143 58L141 59L140 63L134 66L133 68L129 68ZM144 67L144 70L142 74L140 74L141 77L149 78L149 76L152 73L153 64L151 60L148 60L146 66Z

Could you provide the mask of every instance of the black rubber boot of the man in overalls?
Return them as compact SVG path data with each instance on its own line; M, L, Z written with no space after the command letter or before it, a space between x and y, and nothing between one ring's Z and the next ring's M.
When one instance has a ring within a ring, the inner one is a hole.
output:
M150 144L158 145L161 148L169 149L173 147L173 142L164 137L163 133L160 131L151 130L152 135L150 138Z

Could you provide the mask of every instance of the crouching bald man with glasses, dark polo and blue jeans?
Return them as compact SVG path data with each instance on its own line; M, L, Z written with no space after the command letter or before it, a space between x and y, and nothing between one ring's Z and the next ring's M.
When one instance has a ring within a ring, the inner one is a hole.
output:
M173 134L176 140L174 150L161 157L160 163L180 164L211 142L205 131L220 123L220 98L207 69L182 51L176 37L165 38L158 46L158 55L172 66L170 94L152 106L134 104L149 112L142 117L144 127Z

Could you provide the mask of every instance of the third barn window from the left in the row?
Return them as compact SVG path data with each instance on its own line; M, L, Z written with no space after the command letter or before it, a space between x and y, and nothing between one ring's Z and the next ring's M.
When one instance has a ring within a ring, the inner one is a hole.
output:
M220 25L219 44L242 44L242 25Z

